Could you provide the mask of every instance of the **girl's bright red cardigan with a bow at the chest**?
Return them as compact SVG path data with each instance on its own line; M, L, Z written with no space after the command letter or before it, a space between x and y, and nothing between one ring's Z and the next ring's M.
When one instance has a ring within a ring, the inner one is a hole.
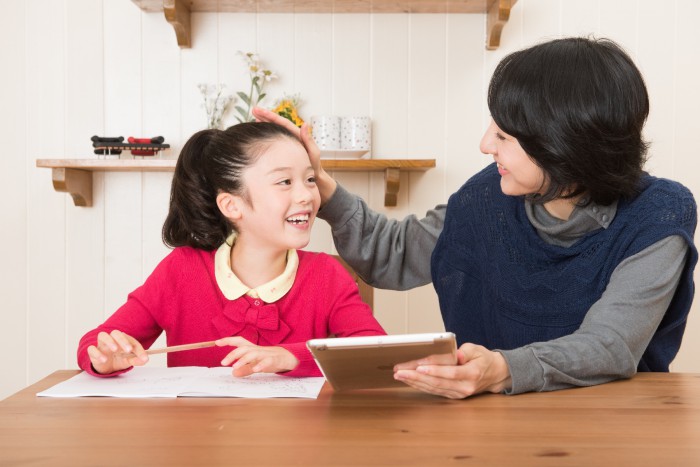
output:
M228 300L214 276L216 251L175 248L146 282L104 324L78 346L80 368L96 376L87 348L100 331L119 329L150 347L165 331L167 345L242 336L258 345L279 345L299 360L288 376L321 376L306 348L308 339L386 334L360 298L347 271L324 253L298 251L294 285L280 300L266 304L247 295ZM232 347L173 352L168 366L220 366ZM121 372L113 373L112 375Z

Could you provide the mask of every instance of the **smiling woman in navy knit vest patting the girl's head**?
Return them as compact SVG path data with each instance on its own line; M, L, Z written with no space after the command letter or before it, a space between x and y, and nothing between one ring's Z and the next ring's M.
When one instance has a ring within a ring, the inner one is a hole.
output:
M642 170L639 70L612 41L554 40L505 57L488 105L480 149L495 163L424 219L373 213L319 167L341 256L377 287L432 281L462 344L456 364L434 356L395 377L461 398L668 371L693 297L696 207Z

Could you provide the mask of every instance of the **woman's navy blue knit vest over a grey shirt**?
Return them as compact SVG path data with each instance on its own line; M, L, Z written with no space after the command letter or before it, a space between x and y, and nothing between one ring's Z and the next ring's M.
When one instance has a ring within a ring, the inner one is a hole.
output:
M450 197L433 251L433 285L445 328L460 344L503 350L571 334L625 258L680 235L690 255L639 363L640 371L668 371L693 300L696 206L677 182L646 175L641 183L636 198L618 203L607 229L565 248L537 235L523 199L501 191L495 164L476 174Z

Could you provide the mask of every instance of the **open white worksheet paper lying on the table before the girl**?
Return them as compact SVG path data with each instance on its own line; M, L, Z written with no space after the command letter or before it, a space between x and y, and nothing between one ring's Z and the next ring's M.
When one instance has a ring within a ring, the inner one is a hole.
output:
M325 379L257 373L244 378L230 367L135 367L119 376L98 378L85 372L37 393L43 397L300 397L316 399Z

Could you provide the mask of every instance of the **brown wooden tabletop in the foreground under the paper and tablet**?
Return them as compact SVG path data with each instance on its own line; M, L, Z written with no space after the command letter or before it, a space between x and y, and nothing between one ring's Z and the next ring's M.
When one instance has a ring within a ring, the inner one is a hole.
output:
M459 401L35 396L75 373L0 402L0 465L700 465L700 374Z

